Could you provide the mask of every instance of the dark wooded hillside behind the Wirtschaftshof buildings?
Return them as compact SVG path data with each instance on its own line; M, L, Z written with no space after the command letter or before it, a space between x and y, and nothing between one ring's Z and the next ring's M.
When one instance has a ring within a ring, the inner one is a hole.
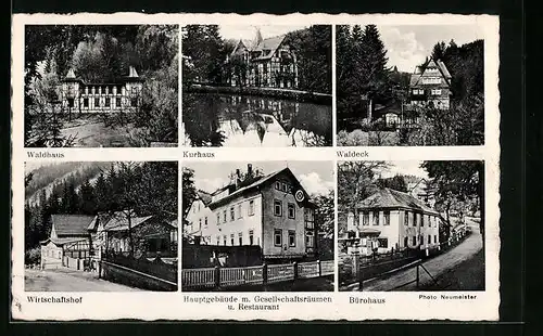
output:
M25 249L48 238L54 214L94 216L131 209L138 216L176 219L177 177L174 161L112 163L100 167L93 183L90 176L83 182L71 176L49 195L41 189L39 201L25 205ZM26 183L31 183L31 176Z

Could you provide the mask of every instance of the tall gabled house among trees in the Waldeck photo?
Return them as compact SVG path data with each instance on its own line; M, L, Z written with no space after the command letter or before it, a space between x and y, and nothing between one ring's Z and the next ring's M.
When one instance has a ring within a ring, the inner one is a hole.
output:
M432 106L447 109L451 100L451 74L440 60L430 59L425 68L416 67L411 75L412 106Z

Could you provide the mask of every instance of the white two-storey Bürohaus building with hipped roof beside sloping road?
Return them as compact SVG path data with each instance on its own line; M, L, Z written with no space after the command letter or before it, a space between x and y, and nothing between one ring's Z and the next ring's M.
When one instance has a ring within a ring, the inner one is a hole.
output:
M340 238L349 254L371 255L405 248L433 249L440 244L440 215L409 194L381 189L346 216Z

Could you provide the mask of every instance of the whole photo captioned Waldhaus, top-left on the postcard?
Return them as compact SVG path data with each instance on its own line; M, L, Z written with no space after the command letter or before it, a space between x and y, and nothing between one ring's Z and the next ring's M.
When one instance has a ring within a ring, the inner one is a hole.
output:
M25 147L178 145L177 25L26 25Z

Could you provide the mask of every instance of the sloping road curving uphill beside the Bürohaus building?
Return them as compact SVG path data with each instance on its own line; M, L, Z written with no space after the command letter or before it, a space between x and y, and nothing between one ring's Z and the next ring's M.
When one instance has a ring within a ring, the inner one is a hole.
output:
M458 246L452 248L451 250L439 255L425 261L422 264L432 274L433 277L454 269L458 264L471 259L478 251L482 249L482 240L479 232L479 223L470 219L466 219L467 224L471 228L471 234L466 237ZM483 267L483 266L481 266ZM420 286L427 286L432 283L430 276L422 270L419 270ZM384 292L392 290L393 288L411 282L416 279L416 268L409 268L407 270L392 274L391 276L384 279L376 279L364 282L363 290L366 292ZM447 284L443 284L447 285ZM414 290L416 284L404 286L395 290ZM358 290L358 285L350 287L350 290Z

